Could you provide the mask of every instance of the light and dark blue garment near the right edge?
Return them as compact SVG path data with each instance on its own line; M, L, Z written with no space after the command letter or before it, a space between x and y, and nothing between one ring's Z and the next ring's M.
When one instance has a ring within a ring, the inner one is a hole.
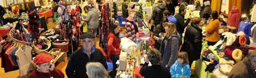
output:
M240 31L243 31L244 34L251 36L251 28L252 28L251 22L241 21L239 24L237 33Z

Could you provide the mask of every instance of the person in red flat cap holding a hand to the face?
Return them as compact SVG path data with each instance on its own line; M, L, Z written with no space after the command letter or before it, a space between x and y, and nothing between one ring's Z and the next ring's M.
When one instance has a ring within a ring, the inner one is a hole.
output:
M54 57L41 53L38 54L34 63L36 63L36 68L30 74L29 78L64 78L64 74L59 70L54 68L54 64L50 63Z

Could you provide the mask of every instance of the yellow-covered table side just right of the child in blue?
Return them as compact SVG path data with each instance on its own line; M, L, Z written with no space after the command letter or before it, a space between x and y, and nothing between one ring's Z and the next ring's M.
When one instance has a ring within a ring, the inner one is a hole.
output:
M202 59L198 59L192 63L192 66L195 67L195 72L200 78L212 78L213 74L209 73L208 71L205 72L207 64L210 62L202 61Z

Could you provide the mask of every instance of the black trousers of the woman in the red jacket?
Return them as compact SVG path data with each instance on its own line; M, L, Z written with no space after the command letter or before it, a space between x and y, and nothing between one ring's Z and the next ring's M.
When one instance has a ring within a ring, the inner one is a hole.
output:
M119 55L113 55L113 56L110 57L110 59L113 63L113 69L110 73L110 76L112 78L114 78L116 76L116 73L117 73L117 70L116 70L117 69L117 64L116 64L116 62L117 62L117 60L119 60Z

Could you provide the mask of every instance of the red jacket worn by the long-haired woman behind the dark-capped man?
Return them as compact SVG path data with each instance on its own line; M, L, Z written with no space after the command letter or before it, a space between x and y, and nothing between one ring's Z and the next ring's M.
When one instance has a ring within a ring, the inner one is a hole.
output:
M121 49L119 48L120 42L118 42L113 32L109 33L108 40L109 42L107 42L107 57L110 58L112 55L119 55L121 53Z

